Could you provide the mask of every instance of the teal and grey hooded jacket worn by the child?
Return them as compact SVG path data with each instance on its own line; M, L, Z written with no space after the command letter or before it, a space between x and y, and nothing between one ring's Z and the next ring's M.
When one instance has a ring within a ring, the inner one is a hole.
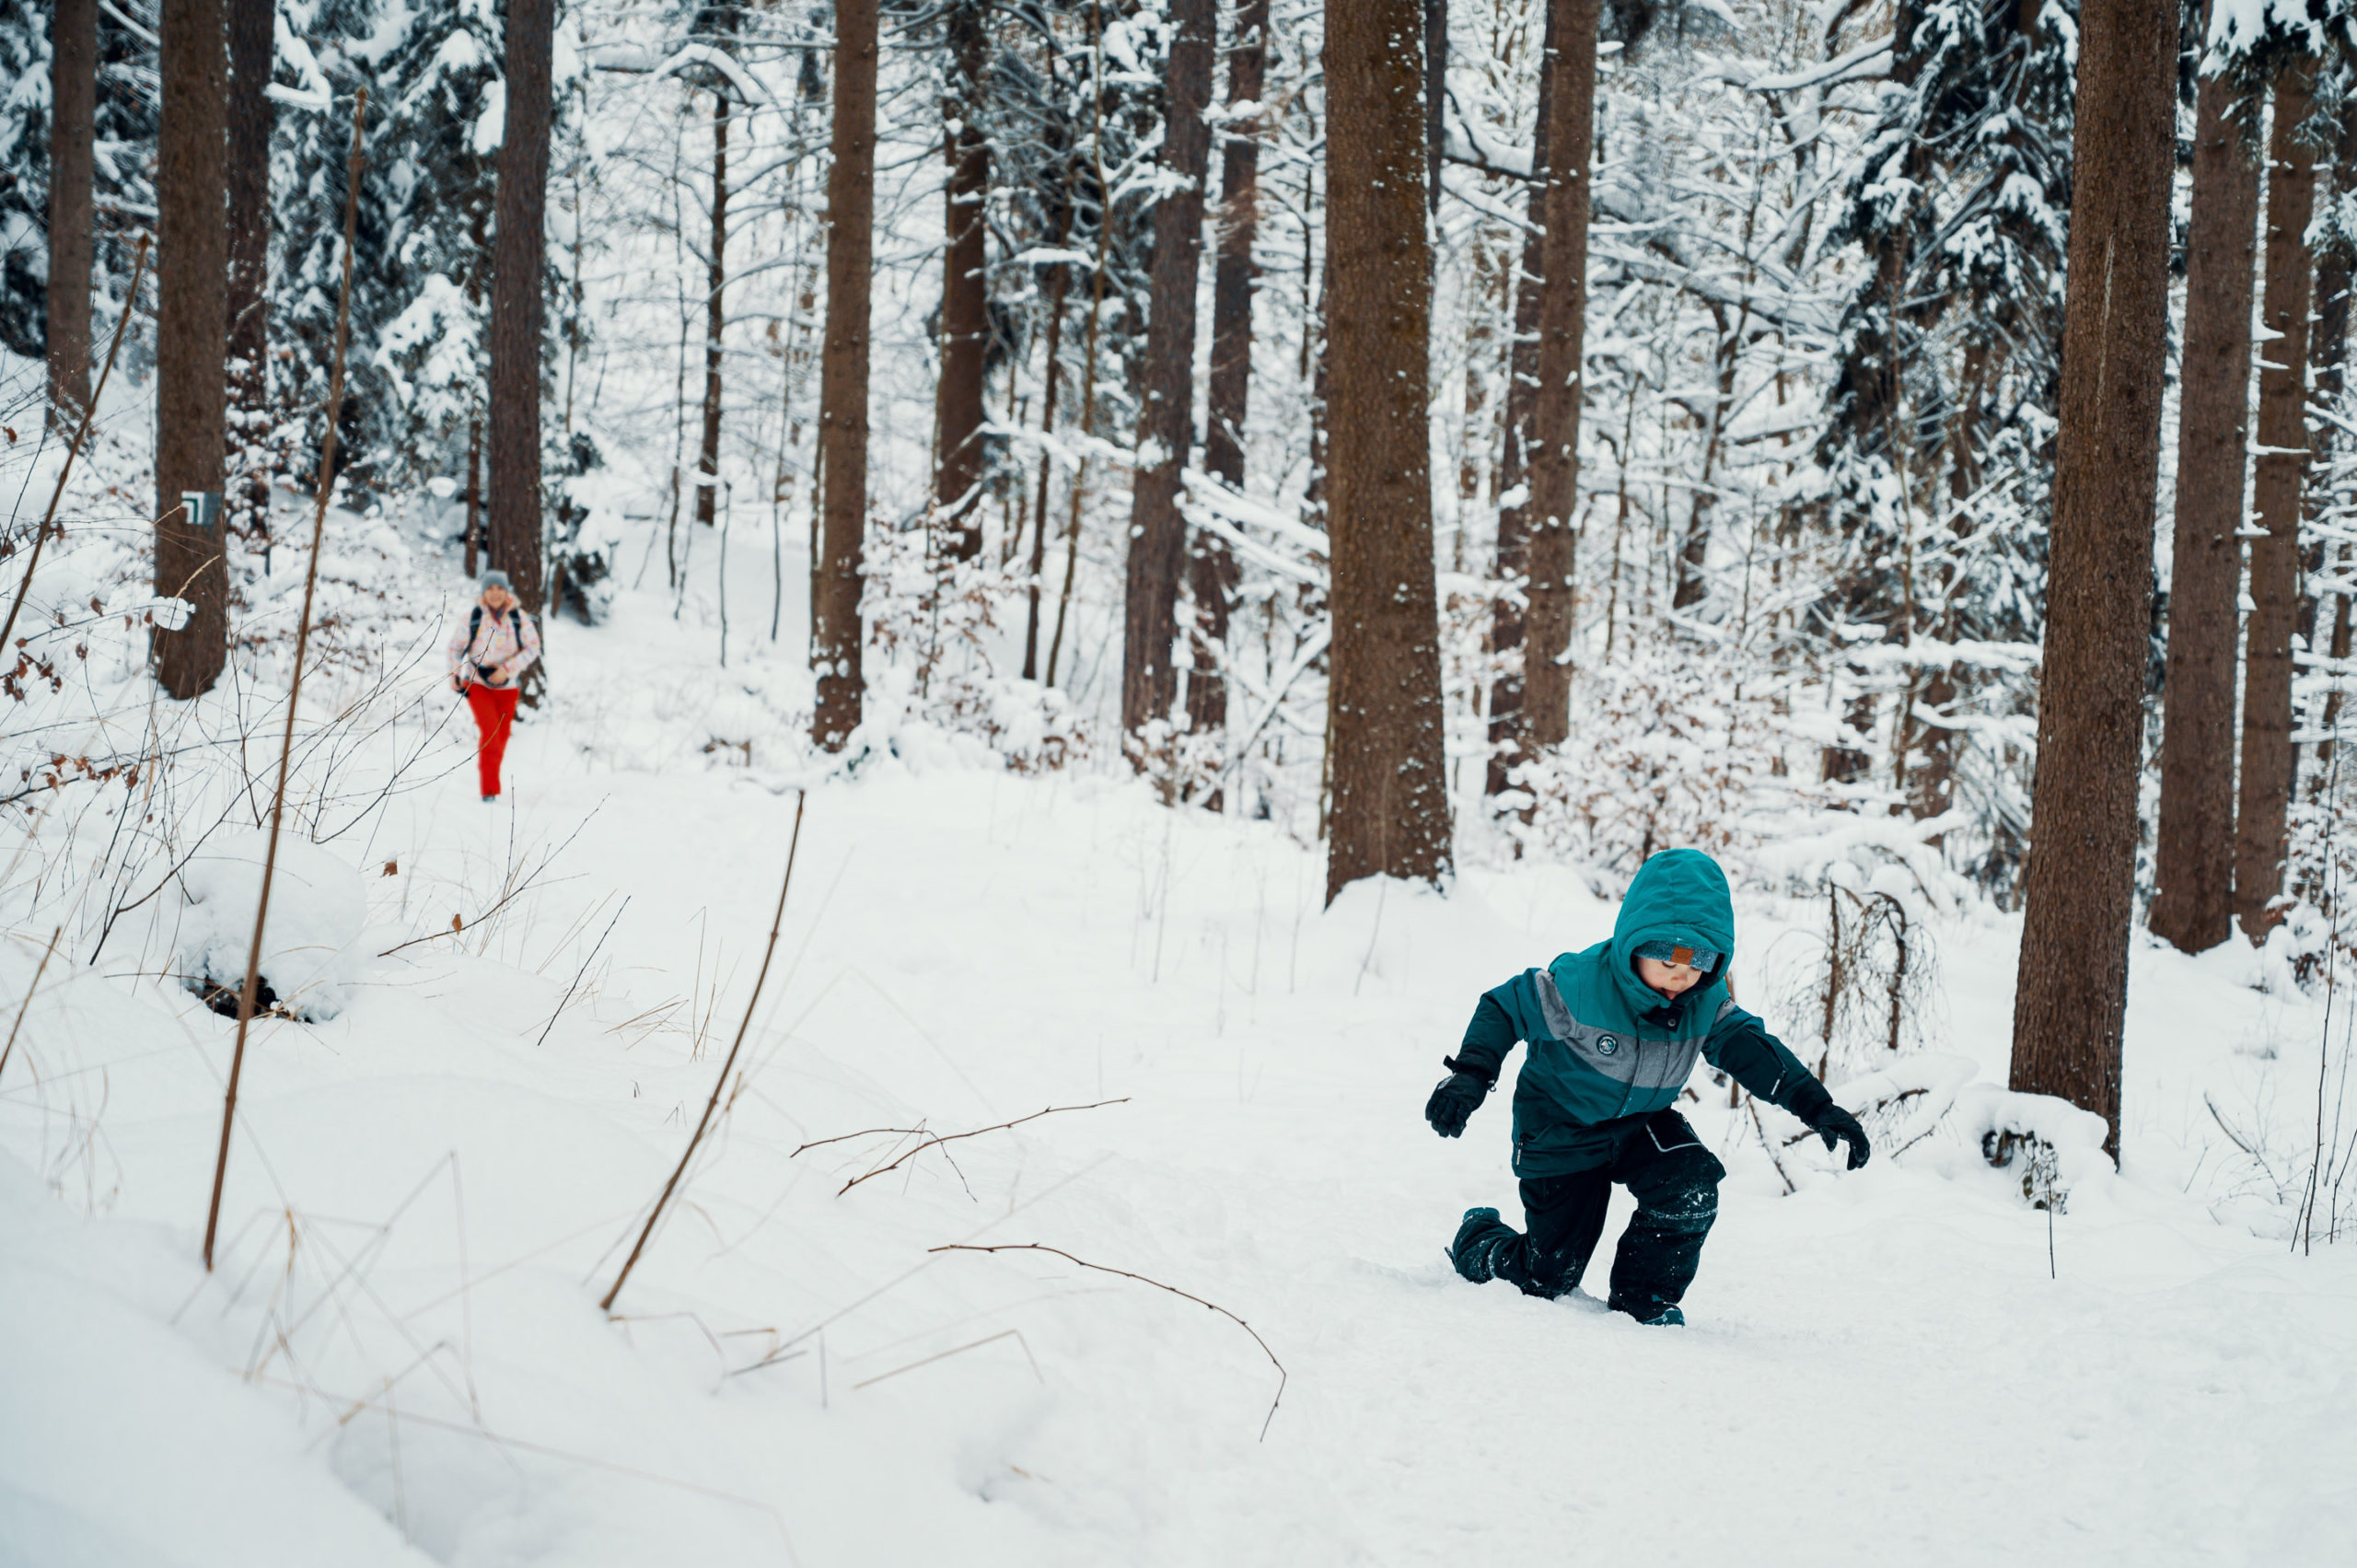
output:
M1695 986L1664 1000L1636 976L1652 941L1718 953ZM1527 1042L1513 1085L1513 1172L1563 1177L1610 1162L1643 1118L1678 1103L1695 1059L1815 1122L1831 1094L1728 993L1735 901L1699 849L1652 856L1629 884L1612 941L1565 953L1483 993L1454 1063L1487 1082Z

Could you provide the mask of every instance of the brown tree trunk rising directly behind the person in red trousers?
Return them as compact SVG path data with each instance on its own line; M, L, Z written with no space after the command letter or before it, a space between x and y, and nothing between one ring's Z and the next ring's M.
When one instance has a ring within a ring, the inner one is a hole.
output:
M507 134L490 238L490 559L535 615L552 24L554 0L507 2Z

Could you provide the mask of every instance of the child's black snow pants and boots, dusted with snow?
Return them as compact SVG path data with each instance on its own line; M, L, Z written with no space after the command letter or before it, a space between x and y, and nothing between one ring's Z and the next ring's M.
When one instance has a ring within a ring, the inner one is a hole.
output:
M1652 1318L1695 1283L1725 1174L1683 1115L1659 1111L1617 1139L1605 1165L1525 1179L1523 1224L1530 1231L1492 1221L1464 1236L1457 1273L1473 1283L1511 1280L1534 1297L1572 1290L1603 1238L1605 1203L1619 1181L1636 1198L1636 1214L1612 1259L1612 1309Z

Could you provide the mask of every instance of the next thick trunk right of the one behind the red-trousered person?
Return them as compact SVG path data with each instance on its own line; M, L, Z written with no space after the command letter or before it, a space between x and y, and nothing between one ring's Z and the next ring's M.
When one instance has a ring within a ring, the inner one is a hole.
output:
M811 594L811 738L830 750L860 724L860 559L867 542L867 281L877 210L877 0L834 7L834 163L827 170L827 342L818 361L823 521Z

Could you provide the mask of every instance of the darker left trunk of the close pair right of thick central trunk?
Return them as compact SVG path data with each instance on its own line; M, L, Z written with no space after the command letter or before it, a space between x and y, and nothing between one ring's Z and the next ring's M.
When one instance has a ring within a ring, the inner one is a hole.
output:
M1530 573L1530 439L1539 403L1539 299L1546 295L1546 130L1556 116L1556 14L1549 0L1539 40L1539 120L1530 141L1530 229L1523 233L1523 264L1513 278L1513 342L1506 347L1506 441L1497 462L1497 580L1513 585ZM1501 658L1490 684L1490 771L1485 790L1499 795L1508 773L1523 762L1523 641L1527 604L1499 599L1490 620L1490 648Z

